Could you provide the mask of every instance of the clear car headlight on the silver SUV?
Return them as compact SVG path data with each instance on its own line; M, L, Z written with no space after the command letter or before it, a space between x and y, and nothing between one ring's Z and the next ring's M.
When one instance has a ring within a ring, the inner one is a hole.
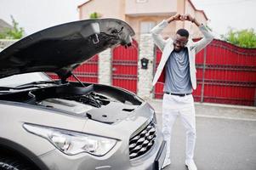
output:
M53 127L24 124L29 133L48 139L48 141L67 155L87 152L94 156L104 156L117 143L116 139L94 136L86 133L75 133Z

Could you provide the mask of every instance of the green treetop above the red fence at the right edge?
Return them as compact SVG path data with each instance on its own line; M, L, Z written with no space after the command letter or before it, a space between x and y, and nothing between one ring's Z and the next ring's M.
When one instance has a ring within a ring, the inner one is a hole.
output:
M230 28L229 31L221 37L225 41L242 48L256 48L256 33L253 29L235 31Z

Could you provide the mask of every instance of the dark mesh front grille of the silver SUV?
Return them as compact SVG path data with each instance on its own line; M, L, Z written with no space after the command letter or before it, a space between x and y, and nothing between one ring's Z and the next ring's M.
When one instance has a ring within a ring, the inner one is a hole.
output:
M129 141L130 159L144 155L151 150L156 139L156 127L154 122L150 122L139 133L136 133Z

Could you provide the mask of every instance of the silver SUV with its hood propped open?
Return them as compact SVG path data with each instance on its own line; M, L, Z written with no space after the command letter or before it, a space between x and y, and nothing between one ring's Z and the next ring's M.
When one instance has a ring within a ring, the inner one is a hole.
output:
M72 74L106 48L131 45L132 36L122 20L81 20L39 31L0 53L1 170L162 167L166 146L151 105Z

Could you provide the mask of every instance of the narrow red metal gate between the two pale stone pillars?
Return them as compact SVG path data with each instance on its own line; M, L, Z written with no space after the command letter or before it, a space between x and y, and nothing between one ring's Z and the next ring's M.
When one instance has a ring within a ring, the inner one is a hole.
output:
M118 46L112 52L112 85L137 93L138 43L129 48Z

